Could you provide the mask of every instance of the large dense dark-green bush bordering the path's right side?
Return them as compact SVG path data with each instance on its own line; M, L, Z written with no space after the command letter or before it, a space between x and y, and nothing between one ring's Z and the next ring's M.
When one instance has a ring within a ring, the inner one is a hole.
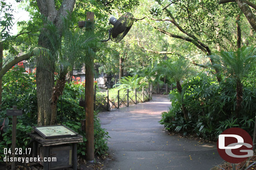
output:
M177 90L170 92L172 107L162 113L161 124L170 131L196 134L207 140L217 140L219 134L230 127L240 127L253 134L256 113L256 90L252 84L243 84L243 107L235 117L235 82L226 78L218 83L206 74L191 77L182 84L183 96ZM188 110L185 121L181 104Z

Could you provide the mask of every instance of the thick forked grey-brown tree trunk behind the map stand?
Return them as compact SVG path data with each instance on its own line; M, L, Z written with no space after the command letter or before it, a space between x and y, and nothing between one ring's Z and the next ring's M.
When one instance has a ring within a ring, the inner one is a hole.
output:
M54 0L37 0L40 13L47 17L58 30L59 36L62 35L63 17L73 11L76 0L63 0L60 9L57 11ZM44 48L52 50L49 39L43 36L42 30L38 44ZM48 59L47 59L48 58ZM49 125L51 119L51 98L54 87L54 61L49 56L41 55L37 59L37 106L38 106L38 125Z

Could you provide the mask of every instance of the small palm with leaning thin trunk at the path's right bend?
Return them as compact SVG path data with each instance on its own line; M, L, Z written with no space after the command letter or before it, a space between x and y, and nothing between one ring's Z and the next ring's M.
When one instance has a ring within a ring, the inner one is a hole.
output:
M191 73L191 68L188 66L188 60L183 57L180 57L177 61L165 60L159 63L159 65L154 69L158 72L158 74L162 74L163 76L170 76L176 82L177 91L180 96L183 96L181 80L183 80L186 76ZM187 121L188 118L188 110L183 103L183 97L181 99L181 107L184 115L184 119Z

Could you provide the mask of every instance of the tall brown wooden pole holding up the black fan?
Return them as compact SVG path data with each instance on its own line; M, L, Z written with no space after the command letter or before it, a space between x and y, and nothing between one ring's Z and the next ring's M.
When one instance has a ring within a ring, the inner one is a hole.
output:
M94 13L87 12L86 15L87 22L94 22ZM90 28L88 28L90 29ZM93 29L93 28L91 28ZM86 66L85 72L85 111L86 111L86 124L85 124L85 133L86 133L86 160L89 162L94 162L94 58L92 56L88 62L89 66Z

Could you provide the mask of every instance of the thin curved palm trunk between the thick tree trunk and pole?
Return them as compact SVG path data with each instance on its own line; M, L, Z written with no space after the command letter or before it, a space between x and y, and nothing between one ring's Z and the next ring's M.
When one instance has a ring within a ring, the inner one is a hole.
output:
M60 95L62 95L63 93L65 83L66 83L65 75L62 75L57 80L55 87L53 88L52 99L51 99L52 114L51 114L50 125L55 125L57 123L57 101Z

